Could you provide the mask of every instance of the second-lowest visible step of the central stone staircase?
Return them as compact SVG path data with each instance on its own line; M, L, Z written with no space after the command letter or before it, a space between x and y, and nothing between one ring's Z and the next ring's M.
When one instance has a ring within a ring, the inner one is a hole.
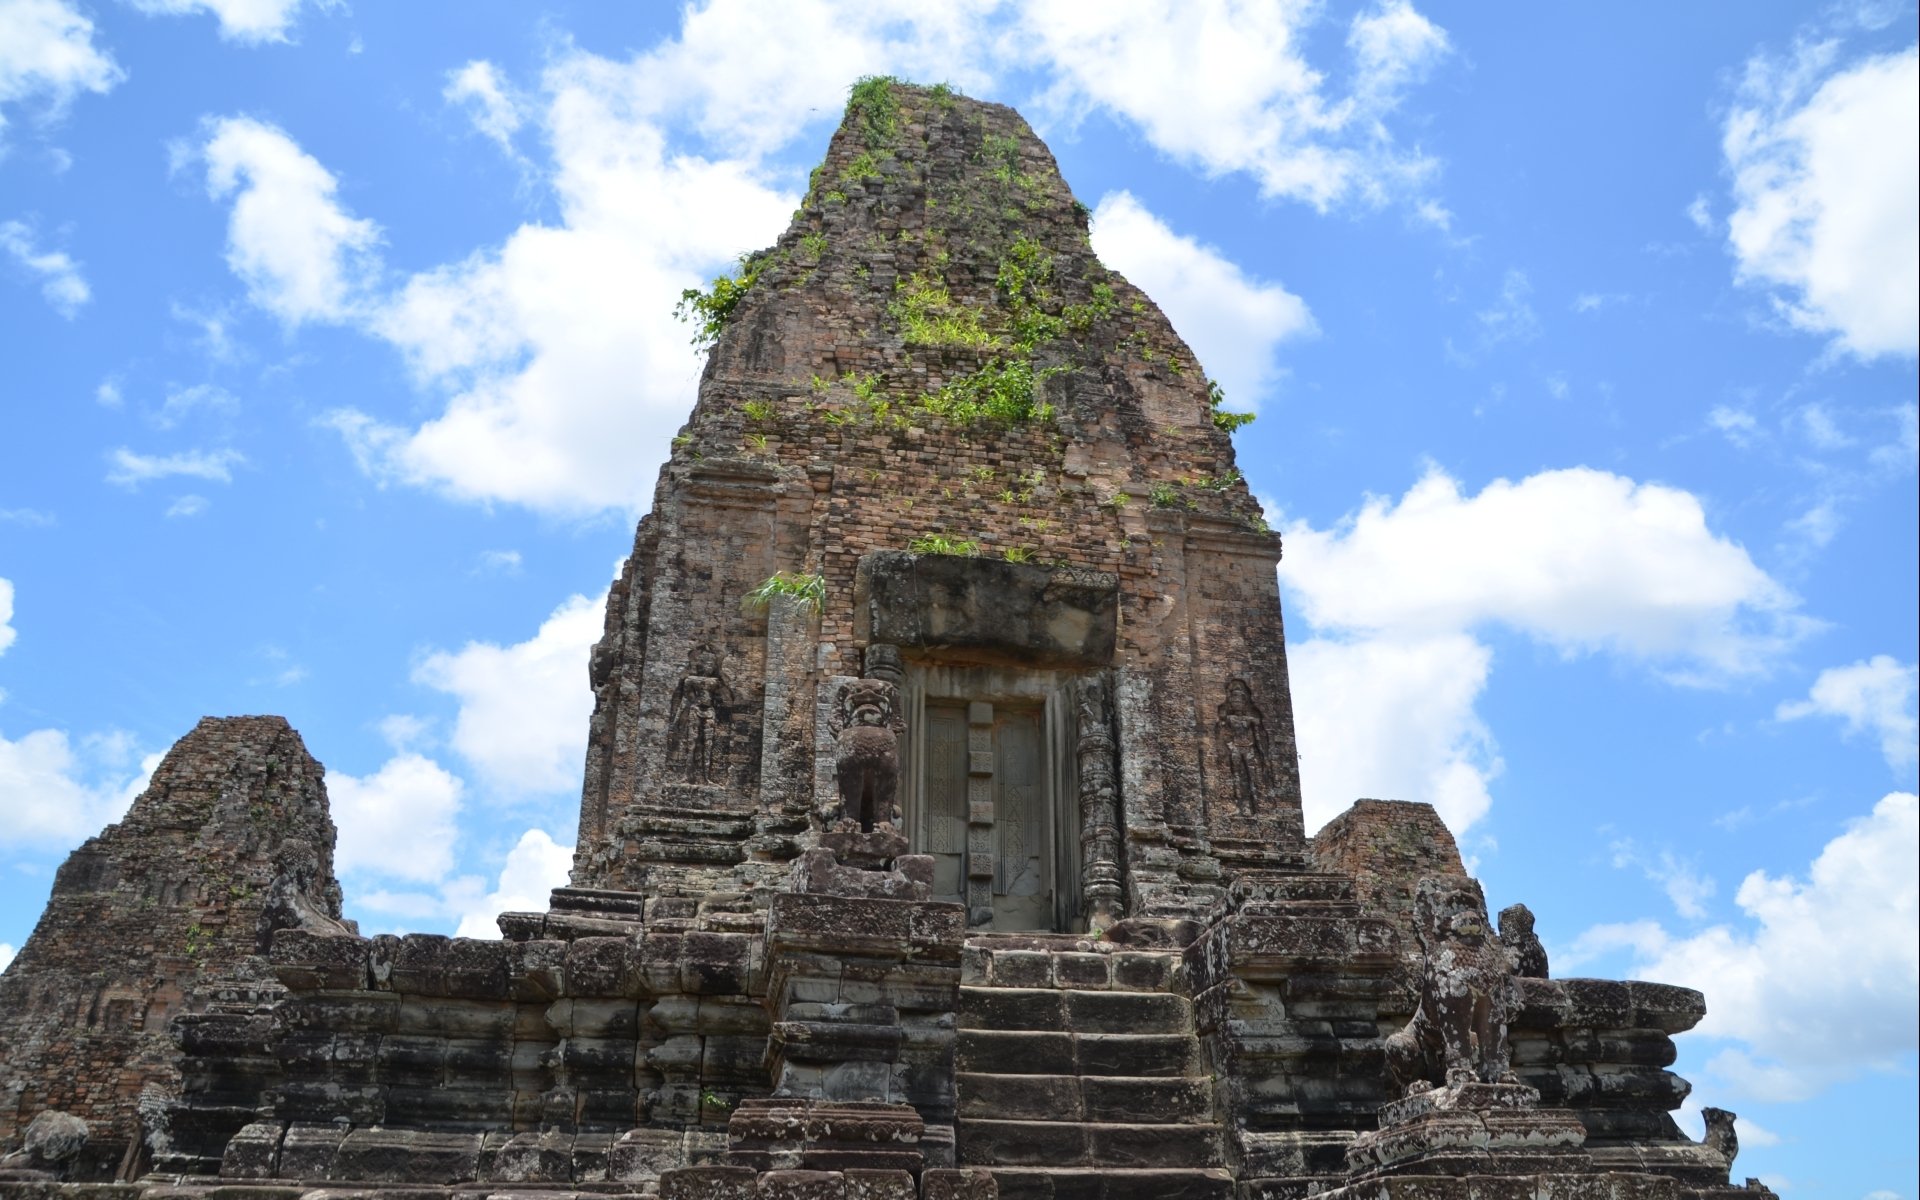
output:
M960 1121L960 1165L989 1167L1217 1167L1213 1125L1092 1125L1079 1121Z

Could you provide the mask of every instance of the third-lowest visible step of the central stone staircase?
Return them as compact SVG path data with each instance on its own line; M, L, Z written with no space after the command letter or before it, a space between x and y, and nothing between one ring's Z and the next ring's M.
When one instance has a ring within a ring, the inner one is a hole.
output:
M1135 1125L1198 1125L1213 1119L1212 1079L962 1073L954 1083L960 1119Z

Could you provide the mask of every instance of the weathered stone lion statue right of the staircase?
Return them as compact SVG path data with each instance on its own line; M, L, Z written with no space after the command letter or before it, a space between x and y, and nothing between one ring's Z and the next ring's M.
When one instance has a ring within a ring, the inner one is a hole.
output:
M1386 1069L1405 1094L1434 1083L1517 1083L1507 1054L1513 964L1488 929L1480 885L1428 876L1413 891L1421 1002L1386 1039Z

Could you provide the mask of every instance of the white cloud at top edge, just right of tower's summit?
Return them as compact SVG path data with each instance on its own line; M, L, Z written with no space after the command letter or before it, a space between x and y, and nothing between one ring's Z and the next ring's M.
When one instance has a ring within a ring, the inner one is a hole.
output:
M1250 0L1050 0L1021 10L1016 40L1058 75L1054 111L1114 111L1212 175L1244 171L1319 209L1417 194L1434 163L1402 150L1386 119L1448 54L1446 33L1404 2L1359 13L1350 88L1334 94L1304 50L1317 17Z

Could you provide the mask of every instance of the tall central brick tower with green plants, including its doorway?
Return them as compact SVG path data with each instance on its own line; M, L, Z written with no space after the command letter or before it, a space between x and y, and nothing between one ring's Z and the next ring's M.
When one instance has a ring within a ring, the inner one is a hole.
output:
M1198 916L1298 870L1279 538L1233 417L1025 121L870 84L720 288L593 653L557 902L781 877L862 674L900 687L904 829L972 927ZM753 603L772 578L812 595Z

